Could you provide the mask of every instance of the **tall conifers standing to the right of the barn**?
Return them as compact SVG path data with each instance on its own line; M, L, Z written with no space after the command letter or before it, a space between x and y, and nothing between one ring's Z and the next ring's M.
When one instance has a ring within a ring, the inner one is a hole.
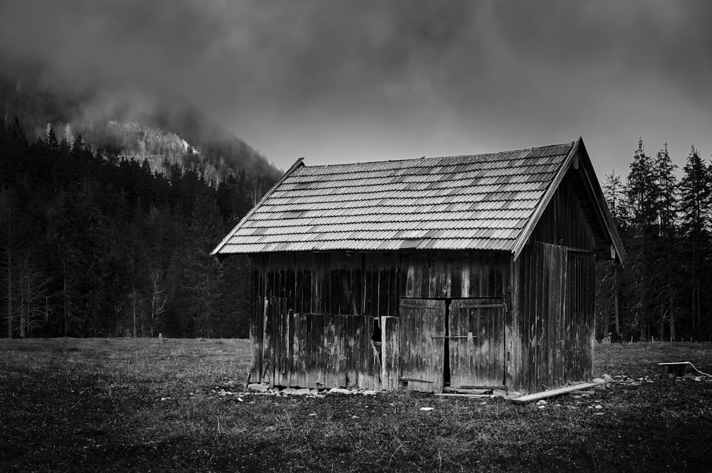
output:
M654 155L642 139L625 179L603 191L627 265L597 267L597 336L707 340L712 334L712 166L691 147L678 169L667 144Z

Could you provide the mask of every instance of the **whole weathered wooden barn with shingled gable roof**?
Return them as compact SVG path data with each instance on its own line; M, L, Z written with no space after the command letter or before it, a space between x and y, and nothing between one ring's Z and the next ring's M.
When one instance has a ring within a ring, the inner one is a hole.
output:
M298 160L212 253L251 260L251 380L308 388L590 380L595 258L624 262L582 139Z

